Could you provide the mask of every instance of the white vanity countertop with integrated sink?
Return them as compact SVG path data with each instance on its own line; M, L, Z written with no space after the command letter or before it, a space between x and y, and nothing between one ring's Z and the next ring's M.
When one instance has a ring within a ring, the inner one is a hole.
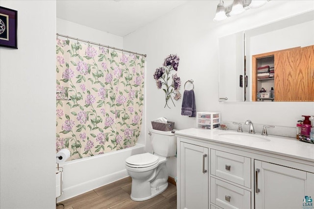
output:
M228 139L220 135L229 133L256 136L259 139L263 138L269 141L250 140L247 137L246 139ZM294 138L273 135L262 136L261 133L237 133L235 130L224 131L220 129L205 130L197 128L176 131L175 134L177 137L202 139L314 162L314 144L302 142Z

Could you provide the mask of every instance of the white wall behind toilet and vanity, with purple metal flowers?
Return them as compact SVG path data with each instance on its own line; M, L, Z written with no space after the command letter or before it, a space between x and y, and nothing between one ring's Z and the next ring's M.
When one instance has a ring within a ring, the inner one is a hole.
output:
M143 130L147 130L151 126L150 121L160 116L174 121L176 129L196 127L194 118L181 116L182 99L176 102L176 107L164 108L164 93L156 87L153 74L170 53L180 56L177 74L181 77L182 94L185 81L194 80L197 111L220 111L222 119L228 121L251 119L260 133L262 124L293 128L302 115L314 115L313 102L219 103L217 93L219 37L313 10L314 1L271 0L259 9L214 23L212 19L217 3L218 0L190 1L124 37L126 50L147 54L147 120ZM243 128L247 130L246 126ZM147 148L150 148L149 143Z

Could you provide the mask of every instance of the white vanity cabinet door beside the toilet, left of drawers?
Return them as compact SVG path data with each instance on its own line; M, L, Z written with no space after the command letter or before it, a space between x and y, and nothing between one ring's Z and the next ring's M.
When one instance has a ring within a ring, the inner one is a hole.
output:
M209 208L209 149L194 144L180 144L181 209Z

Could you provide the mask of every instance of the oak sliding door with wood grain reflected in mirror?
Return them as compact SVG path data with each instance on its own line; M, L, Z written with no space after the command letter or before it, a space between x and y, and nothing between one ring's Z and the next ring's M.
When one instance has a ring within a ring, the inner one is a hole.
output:
M275 100L314 101L314 46L275 54Z

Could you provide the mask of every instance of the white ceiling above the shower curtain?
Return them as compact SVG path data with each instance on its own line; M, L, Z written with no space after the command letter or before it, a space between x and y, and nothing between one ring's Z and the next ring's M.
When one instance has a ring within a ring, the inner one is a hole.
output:
M57 0L56 17L126 36L188 0Z

